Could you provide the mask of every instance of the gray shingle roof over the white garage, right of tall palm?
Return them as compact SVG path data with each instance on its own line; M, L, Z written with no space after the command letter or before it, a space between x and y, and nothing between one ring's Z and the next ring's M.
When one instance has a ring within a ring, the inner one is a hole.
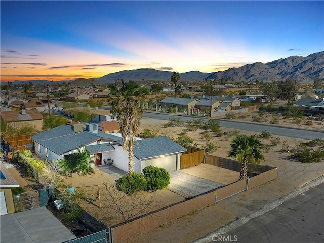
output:
M134 146L134 156L138 159L154 158L161 155L185 152L186 149L169 137L158 136L138 140Z

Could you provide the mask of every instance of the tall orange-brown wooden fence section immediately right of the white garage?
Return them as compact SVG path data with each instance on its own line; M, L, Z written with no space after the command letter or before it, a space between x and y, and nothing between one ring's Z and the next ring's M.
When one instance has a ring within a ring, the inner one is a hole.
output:
M205 159L205 149L198 149L191 146L184 146L187 151L180 156L180 169L201 164Z

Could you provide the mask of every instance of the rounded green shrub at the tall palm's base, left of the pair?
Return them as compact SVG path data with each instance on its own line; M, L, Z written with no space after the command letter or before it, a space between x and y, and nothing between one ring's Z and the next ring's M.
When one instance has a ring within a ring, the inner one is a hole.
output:
M125 192L127 195L132 195L137 191L146 191L147 182L145 177L138 173L130 175L123 175L123 177L116 180L116 186L119 191Z

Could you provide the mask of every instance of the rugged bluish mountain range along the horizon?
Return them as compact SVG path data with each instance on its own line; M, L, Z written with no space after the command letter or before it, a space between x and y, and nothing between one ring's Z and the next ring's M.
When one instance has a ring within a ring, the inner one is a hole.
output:
M171 75L171 71L142 68L136 70L124 70L107 74L100 78L90 78L88 80L94 79L94 81L98 83L113 83L117 79L124 79L125 81L170 81ZM272 82L285 80L288 78L296 79L298 82L313 81L316 78L324 79L324 51L313 53L306 57L290 56L265 64L262 62L256 62L238 68L233 67L225 71L218 71L214 73L203 73L200 71L180 73L180 81L230 79L235 81L259 80L263 82ZM39 84L42 82L50 83L50 81L47 80L37 80L32 82L34 84ZM22 84L22 82L14 81L13 84Z

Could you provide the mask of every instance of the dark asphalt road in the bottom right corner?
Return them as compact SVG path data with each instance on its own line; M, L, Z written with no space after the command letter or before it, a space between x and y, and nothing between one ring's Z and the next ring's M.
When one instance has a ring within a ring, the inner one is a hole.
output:
M213 239L210 242L218 242L219 239L224 242L224 239L231 239L237 243L324 242L324 183L226 235L215 235Z

